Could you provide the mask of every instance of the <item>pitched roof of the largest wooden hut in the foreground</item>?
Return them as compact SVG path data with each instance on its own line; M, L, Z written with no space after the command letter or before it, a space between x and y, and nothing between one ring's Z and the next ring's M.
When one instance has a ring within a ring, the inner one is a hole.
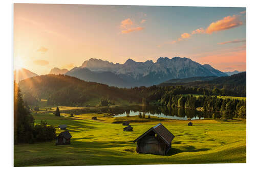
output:
M170 145L172 144L172 140L175 137L170 131L168 131L161 123L157 124L156 126L150 128L145 133L143 133L140 137L134 140L134 142L138 141L139 139L143 138L146 134L150 133L151 131L154 131L160 138L163 139L163 141Z

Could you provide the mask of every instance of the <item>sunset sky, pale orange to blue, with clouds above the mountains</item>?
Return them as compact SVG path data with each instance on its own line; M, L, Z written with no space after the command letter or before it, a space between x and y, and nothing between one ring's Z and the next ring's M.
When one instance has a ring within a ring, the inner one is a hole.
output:
M14 4L14 69L186 57L246 70L246 8Z

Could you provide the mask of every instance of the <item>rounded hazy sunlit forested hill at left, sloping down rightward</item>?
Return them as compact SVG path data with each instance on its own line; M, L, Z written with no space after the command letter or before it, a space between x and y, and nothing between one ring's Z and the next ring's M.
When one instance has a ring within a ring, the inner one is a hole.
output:
M130 99L139 102L132 89L119 89L108 85L85 82L66 75L44 75L19 82L24 94L47 99L50 105L82 106L95 98L109 100Z

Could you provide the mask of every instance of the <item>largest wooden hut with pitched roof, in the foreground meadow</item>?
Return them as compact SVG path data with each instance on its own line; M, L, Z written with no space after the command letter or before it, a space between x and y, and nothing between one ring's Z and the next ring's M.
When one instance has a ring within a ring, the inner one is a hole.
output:
M161 123L152 127L134 140L137 142L137 153L166 155L172 148L174 135Z

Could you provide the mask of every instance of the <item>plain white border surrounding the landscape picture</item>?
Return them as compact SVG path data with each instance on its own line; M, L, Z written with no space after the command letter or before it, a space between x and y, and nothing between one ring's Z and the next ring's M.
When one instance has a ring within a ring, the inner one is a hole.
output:
M101 5L151 5L151 6L210 6L210 7L247 7L247 163L242 164L183 164L183 165L129 165L129 166L58 166L49 169L252 169L256 159L255 141L255 85L256 85L256 55L255 55L255 3L254 1L2 1L1 2L1 167L13 168L13 3L41 3L41 4L101 4ZM28 167L20 167L25 169ZM45 167L31 167L42 169Z

